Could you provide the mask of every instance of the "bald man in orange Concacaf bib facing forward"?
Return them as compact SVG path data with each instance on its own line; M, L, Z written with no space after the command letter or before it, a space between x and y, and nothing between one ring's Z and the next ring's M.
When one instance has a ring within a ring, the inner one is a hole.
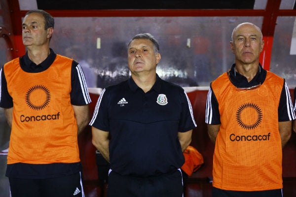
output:
M256 25L234 28L235 64L208 92L213 197L282 197L282 147L296 117L285 79L259 64L263 45Z

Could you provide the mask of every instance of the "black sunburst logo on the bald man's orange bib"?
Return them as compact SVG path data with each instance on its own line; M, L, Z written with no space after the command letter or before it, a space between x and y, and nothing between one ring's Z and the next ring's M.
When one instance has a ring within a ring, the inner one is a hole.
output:
M253 130L259 126L262 121L262 111L254 103L245 103L241 105L236 112L236 121L245 130Z

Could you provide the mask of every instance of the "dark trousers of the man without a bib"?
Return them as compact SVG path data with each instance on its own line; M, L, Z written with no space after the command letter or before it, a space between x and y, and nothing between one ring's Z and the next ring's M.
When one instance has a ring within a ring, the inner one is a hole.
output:
M108 197L183 197L182 173L153 177L121 176L111 171L108 177Z

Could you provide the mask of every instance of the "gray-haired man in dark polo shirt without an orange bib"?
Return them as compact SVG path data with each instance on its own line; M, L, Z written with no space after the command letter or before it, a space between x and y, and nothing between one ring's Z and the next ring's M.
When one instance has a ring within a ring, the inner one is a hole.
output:
M149 33L128 44L131 77L101 93L93 144L110 162L108 197L182 197L183 151L196 123L180 86L156 74L159 44Z

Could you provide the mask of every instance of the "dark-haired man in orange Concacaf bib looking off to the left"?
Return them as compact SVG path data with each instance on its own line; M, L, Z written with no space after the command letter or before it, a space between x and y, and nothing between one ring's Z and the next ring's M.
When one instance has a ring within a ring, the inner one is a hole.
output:
M6 176L12 197L84 197L77 134L91 102L83 71L49 48L54 19L27 12L27 53L0 71L0 107L11 126Z

